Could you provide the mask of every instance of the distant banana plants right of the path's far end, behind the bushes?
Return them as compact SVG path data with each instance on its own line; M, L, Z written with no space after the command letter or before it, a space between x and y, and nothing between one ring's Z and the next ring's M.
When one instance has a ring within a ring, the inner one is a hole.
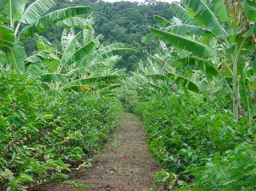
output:
M127 97L137 97L138 100L151 100L156 97L171 96L179 92L178 87L184 89L187 96L189 96L188 90L197 93L200 91L197 78L188 75L186 69L172 64L172 60L180 57L182 51L177 52L172 47L167 48L162 41L157 51L153 56L146 52L147 62L144 64L140 62L132 77L126 80L125 84L129 86L121 88L123 94Z

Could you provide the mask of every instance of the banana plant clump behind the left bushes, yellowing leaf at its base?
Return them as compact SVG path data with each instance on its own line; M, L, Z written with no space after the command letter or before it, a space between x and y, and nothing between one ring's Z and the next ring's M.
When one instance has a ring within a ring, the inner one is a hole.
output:
M94 94L111 94L120 86L123 70L113 66L124 53L135 50L125 48L121 43L100 45L102 35L94 38L94 31L84 29L78 33L74 29L63 31L62 52L52 48L44 37L36 35L39 52L25 61L25 72L42 81L46 88L57 91L90 90Z

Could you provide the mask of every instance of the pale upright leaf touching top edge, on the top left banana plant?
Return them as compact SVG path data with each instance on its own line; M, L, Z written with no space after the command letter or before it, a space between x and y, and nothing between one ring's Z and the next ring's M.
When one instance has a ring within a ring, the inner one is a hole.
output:
M36 21L39 17L49 10L54 5L52 0L37 0L32 3L23 13L19 22L24 24L31 24Z

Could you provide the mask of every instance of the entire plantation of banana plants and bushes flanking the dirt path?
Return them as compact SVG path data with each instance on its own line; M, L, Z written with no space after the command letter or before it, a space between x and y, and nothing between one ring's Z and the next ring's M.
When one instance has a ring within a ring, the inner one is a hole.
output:
M155 15L142 39L159 40L157 53L129 73L115 64L136 50L103 46L90 7L0 3L0 190L87 189L68 173L90 166L123 107L143 119L163 164L149 189L255 189L254 0L171 3L175 17ZM62 50L40 36L52 28L63 28Z

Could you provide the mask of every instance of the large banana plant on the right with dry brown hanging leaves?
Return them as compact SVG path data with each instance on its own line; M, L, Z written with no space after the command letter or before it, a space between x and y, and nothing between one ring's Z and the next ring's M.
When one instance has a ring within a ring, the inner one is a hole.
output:
M256 115L255 100L248 99L255 89L255 11L252 0L185 0L185 8L171 3L176 22L155 16L159 29L151 28L145 43L160 38L186 57L175 60L182 65L198 65L210 76L222 79L233 100L233 112L239 119L239 109ZM179 22L177 22L177 20ZM255 97L255 96L254 96Z

